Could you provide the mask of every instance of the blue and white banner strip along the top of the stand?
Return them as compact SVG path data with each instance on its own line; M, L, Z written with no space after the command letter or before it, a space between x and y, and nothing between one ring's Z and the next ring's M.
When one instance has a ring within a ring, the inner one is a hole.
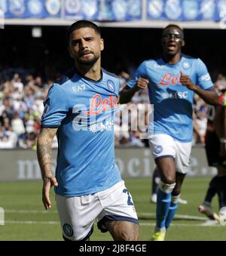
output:
M142 20L144 0L0 0L10 18ZM148 20L212 20L226 17L226 0L146 0Z

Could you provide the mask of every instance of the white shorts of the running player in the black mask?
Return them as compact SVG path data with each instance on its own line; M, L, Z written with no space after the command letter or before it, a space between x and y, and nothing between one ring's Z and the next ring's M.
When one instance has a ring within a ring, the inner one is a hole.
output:
M191 142L182 143L167 134L154 134L149 140L149 145L155 161L166 156L173 157L176 171L187 174L190 163Z

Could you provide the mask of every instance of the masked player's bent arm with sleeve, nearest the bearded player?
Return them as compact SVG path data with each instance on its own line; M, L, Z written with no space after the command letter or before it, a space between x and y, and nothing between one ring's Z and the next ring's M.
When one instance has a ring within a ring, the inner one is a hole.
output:
M147 88L148 79L145 79L145 77L147 77L147 74L145 62L143 62L138 69L136 69L136 72L127 83L127 86L120 91L118 102L121 104L128 103L136 91Z

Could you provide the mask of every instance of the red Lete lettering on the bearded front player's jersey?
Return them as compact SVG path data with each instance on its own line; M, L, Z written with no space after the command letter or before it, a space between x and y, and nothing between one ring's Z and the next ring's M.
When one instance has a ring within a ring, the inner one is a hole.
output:
M95 94L90 100L90 110L85 112L85 116L97 116L99 113L114 109L117 104L117 97L110 94L109 97L102 99L100 94Z

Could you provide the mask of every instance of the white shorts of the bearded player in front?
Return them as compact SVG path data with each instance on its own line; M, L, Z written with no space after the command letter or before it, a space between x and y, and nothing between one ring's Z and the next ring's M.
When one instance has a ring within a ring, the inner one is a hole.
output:
M138 224L133 199L120 181L108 190L88 196L65 197L56 194L63 236L69 240L86 240L93 233L97 217L98 228L107 232L105 221L130 221Z

